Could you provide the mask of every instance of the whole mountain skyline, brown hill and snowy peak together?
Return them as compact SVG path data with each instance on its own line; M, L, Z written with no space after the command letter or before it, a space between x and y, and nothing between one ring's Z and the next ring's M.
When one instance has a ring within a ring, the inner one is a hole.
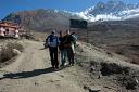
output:
M21 11L9 14L3 21L11 21L26 26L30 29L51 29L56 27L66 28L71 18L81 18L88 22L102 21L124 21L139 17L139 3L126 4L122 1L109 1L98 4L83 11L68 12L62 10L38 9L34 11ZM51 26L51 28L49 28Z

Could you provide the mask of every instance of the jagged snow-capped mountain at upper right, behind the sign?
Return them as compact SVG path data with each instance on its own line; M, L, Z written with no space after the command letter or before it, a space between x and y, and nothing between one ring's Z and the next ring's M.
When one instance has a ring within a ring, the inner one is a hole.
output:
M76 14L89 22L123 21L139 16L139 3L126 4L122 1L99 2L97 5Z

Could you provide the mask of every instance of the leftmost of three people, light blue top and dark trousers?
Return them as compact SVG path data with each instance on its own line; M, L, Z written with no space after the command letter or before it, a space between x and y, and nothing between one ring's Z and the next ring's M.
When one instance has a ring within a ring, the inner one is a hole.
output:
M55 35L55 30L53 30L51 35L47 37L46 41L49 48L52 68L59 69L58 47L60 41Z

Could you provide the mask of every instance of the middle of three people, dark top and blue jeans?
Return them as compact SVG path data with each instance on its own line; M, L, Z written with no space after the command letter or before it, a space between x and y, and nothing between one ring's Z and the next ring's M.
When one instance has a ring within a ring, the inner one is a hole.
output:
M60 50L60 53L61 53L61 67L64 67L65 62L66 62L66 49L64 47L65 39L62 35L62 31L60 31L59 40L60 40L59 50Z

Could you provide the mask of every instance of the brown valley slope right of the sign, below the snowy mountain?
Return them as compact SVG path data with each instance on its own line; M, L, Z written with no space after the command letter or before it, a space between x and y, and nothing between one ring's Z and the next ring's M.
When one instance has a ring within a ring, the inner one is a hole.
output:
M96 22L89 25L88 39L97 47L111 50L139 64L139 18Z

